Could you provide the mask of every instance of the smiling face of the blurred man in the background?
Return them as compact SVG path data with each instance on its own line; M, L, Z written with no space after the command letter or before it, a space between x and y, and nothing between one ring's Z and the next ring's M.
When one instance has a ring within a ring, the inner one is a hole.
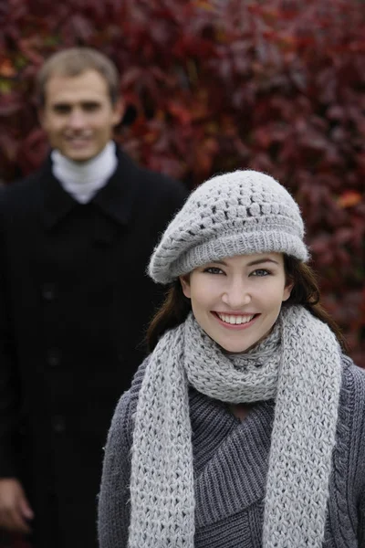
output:
M48 79L39 119L52 148L68 160L86 162L110 141L122 114L111 104L106 80L96 70Z

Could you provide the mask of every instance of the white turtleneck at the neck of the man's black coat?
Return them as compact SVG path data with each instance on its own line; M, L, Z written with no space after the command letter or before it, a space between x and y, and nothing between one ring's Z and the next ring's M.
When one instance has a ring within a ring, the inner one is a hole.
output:
M107 184L118 159L115 143L110 141L95 158L73 162L57 150L52 151L52 173L62 188L80 204L87 204Z

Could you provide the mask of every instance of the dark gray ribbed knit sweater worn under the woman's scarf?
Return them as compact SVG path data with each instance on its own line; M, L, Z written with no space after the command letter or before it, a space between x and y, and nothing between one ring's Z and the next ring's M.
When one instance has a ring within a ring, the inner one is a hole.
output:
M111 423L99 495L100 548L127 547L133 415L146 364L141 364L130 390L120 398ZM225 404L193 387L189 396L196 499L194 546L260 548L275 404L256 404L241 422ZM365 372L347 357L343 358L323 546L365 548Z

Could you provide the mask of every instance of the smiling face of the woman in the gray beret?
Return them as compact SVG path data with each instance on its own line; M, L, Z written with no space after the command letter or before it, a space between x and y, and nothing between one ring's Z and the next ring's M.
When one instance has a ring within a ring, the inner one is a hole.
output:
M281 253L224 258L194 269L181 283L203 331L232 353L266 337L292 289Z

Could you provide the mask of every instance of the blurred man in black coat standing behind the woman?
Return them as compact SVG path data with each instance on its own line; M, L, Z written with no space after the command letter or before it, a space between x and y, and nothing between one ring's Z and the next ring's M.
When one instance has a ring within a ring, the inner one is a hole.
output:
M0 528L92 548L110 418L162 299L146 265L187 193L111 140L108 58L58 52L38 88L52 153L0 193Z

